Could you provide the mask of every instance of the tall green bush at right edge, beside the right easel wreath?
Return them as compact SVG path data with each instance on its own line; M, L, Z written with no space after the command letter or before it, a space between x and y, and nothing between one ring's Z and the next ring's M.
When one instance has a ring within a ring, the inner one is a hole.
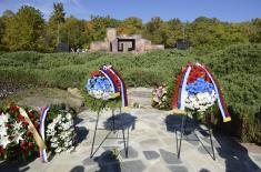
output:
M242 141L261 143L260 122L255 115L261 104L261 45L239 44L205 58L224 94L230 124L223 129L237 133Z

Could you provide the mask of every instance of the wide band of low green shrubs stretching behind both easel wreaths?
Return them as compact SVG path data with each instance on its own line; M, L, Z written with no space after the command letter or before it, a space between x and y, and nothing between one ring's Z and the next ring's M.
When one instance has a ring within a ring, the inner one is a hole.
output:
M0 82L23 82L43 87L82 88L88 75L102 64L113 64L129 87L153 87L174 80L181 67L203 62L220 82L232 122L220 127L242 141L261 143L257 115L261 104L261 44L238 44L198 57L192 51L161 50L147 53L37 53L0 55ZM169 104L173 89L169 93Z

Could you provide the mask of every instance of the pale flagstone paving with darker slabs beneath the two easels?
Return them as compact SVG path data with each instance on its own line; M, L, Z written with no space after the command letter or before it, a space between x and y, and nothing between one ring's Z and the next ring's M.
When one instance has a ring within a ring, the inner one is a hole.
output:
M50 162L39 159L28 164L0 163L0 171L28 172L259 172L261 153L250 152L232 138L214 134L215 160L211 152L208 134L185 132L181 158L177 156L175 132L180 130L181 115L170 114L151 108L130 109L128 113L116 113L117 132L107 139L91 159L91 143L97 114L82 111L77 120L79 145L72 153L50 156ZM111 111L102 112L94 148L98 148L112 128ZM197 128L200 128L199 125ZM129 149L126 158L122 134L128 135ZM178 132L179 133L179 132ZM179 135L179 134L178 134ZM117 153L113 153L113 152ZM119 154L118 154L119 152ZM113 155L118 154L114 159Z

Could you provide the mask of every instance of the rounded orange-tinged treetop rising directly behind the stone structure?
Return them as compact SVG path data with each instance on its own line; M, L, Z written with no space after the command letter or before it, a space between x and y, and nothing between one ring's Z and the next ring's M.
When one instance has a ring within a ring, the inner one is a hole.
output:
M139 34L142 30L142 20L135 17L124 19L118 27L118 32L124 34Z

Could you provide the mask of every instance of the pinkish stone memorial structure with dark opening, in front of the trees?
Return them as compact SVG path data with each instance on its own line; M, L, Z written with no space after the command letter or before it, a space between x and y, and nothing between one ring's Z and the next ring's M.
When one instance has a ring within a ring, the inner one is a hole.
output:
M114 28L107 29L104 41L91 42L91 51L110 51L110 52L144 52L148 50L164 49L163 44L152 44L151 41L143 39L141 34L119 34Z

